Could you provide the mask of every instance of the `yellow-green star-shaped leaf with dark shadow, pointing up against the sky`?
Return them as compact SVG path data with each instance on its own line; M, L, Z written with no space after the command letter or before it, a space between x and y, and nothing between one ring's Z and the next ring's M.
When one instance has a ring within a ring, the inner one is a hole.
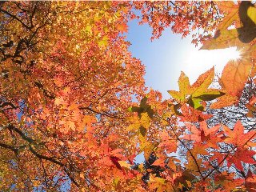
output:
M194 109L202 110L202 101L211 101L223 95L219 90L208 89L213 79L214 67L206 71L206 73L201 74L192 86L190 86L186 74L182 72L178 79L180 91L169 90L168 93L178 102L186 102Z

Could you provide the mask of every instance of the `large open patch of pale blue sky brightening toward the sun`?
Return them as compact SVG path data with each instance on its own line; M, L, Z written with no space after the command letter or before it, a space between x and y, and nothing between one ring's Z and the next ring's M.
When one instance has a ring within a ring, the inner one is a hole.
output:
M181 70L194 82L200 74L215 66L221 73L235 48L226 50L199 50L191 45L191 37L183 38L166 29L159 39L150 41L151 28L129 22L127 40L131 42L130 51L146 66L146 86L162 92L163 98L170 98L167 90L178 90L178 77Z

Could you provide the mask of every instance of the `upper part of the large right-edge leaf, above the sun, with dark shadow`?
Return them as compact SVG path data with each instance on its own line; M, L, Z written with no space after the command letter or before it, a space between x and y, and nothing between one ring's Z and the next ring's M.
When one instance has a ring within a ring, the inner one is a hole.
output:
M239 7L239 8L238 8ZM225 11L225 10L224 10ZM219 24L214 38L203 42L202 50L224 49L231 46L243 47L255 38L256 8L251 2L234 5ZM228 30L235 23L242 23L237 29Z

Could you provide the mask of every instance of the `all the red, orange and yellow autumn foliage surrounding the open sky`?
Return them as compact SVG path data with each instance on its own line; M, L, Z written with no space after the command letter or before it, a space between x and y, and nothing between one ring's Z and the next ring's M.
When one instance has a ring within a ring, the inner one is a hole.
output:
M0 2L0 19L1 191L256 191L254 4ZM241 58L162 100L132 19Z

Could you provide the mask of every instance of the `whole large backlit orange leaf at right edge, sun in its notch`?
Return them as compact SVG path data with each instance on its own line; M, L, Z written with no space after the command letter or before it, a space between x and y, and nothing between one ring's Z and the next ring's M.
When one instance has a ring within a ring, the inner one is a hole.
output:
M251 2L241 2L239 7L234 3L231 3L232 6L230 3L228 4L228 7L230 7L228 8L230 10L229 14L219 24L215 37L204 42L201 49L210 50L237 46L242 53L239 59L228 62L222 71L220 83L230 97L222 97L218 103L214 104L213 108L222 107L224 102L229 102L229 105L237 102L235 97L239 98L241 96L250 70L253 67L250 54L252 54L251 50L255 48L248 43L256 37L254 35L256 8ZM223 7L225 10L226 7ZM228 27L234 22L241 22L242 26L234 30L228 30Z

